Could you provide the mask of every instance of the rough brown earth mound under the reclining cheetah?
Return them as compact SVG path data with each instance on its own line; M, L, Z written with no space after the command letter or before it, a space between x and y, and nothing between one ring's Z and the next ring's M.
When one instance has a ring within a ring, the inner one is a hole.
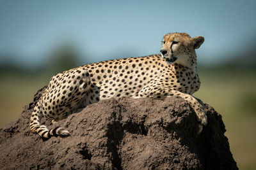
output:
M29 131L36 101L0 129L0 169L237 169L221 115L205 104L201 134L195 113L179 97L109 99L91 104L49 128L67 138L43 141Z

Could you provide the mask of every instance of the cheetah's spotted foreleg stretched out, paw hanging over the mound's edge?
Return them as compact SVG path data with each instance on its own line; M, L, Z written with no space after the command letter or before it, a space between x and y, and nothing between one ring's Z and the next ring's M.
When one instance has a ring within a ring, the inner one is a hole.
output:
M184 94L182 92L179 92L177 90L170 90L168 87L154 87L150 88L150 86L143 87L143 89L140 90L139 92L140 97L153 97L155 99L164 99L165 97L170 97L170 96L180 96L182 99L187 101L191 108L196 113L196 119L199 122L199 131L202 132L203 126L207 124L207 116L205 115L204 112L204 105L200 104L195 97L189 95L189 94Z

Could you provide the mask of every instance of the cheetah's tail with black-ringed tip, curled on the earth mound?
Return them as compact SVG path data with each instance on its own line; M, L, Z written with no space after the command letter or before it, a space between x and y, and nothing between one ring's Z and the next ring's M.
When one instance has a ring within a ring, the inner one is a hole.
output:
M39 107L40 108L40 107ZM47 129L45 125L40 125L40 120L43 116L42 111L39 111L36 105L30 118L30 130L37 133L43 139L49 139L51 136L67 137L70 136L69 132L63 127L55 127L54 129Z

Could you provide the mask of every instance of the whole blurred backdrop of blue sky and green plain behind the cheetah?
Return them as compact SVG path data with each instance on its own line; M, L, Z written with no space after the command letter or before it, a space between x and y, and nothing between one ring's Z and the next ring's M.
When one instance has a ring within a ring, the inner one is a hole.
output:
M0 127L51 76L159 53L163 34L204 36L195 93L223 117L240 169L256 169L255 1L0 1Z

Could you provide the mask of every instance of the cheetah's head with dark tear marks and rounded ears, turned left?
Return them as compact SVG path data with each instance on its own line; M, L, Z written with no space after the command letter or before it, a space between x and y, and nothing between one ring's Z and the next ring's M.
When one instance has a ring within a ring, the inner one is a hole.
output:
M166 59L166 64L177 63L188 66L191 64L188 62L195 62L196 59L193 59L196 57L195 49L204 43L204 37L191 38L189 34L175 32L164 35L162 43L160 52L163 59Z

